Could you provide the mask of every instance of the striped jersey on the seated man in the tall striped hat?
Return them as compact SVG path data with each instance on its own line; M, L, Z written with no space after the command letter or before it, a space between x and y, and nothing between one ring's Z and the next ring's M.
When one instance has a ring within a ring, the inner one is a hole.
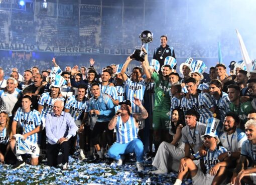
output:
M206 148L206 151L207 151L207 154L206 156L203 157L204 159L204 165L206 167L206 174L209 173L209 170L214 166L216 165L219 161L218 159L218 156L221 154L221 153L224 153L224 152L227 152L227 149L224 148L223 146L216 146L215 150L213 151L209 151L208 148ZM199 151L197 153L194 154L194 157L196 159L200 159L202 158L200 155L199 155Z

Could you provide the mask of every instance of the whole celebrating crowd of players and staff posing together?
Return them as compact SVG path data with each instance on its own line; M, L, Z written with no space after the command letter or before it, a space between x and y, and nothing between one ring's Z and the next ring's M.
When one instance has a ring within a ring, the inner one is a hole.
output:
M93 59L88 68L62 71L53 58L51 70L13 68L8 80L0 68L0 161L20 168L30 154L31 165L47 158L67 170L77 148L79 160L113 165L135 153L138 171L151 156L150 172L178 172L175 185L184 177L193 184L255 184L255 63L246 69L232 61L230 76L216 63L205 83L203 61L188 58L177 73L167 42L162 36L151 62L143 49L145 60L131 72L134 55L99 73Z

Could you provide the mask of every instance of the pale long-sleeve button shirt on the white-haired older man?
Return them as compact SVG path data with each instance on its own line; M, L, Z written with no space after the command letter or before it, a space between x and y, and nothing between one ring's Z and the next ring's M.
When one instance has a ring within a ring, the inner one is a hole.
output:
M62 137L69 139L75 136L77 131L74 118L70 113L64 111L61 112L59 117L55 115L54 112L47 114L45 124L46 136L50 144L56 144Z

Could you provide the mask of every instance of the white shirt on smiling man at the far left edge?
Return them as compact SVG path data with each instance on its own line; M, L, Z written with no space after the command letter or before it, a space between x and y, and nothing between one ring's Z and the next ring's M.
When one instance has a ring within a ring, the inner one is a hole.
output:
M15 88L13 93L5 92L4 90L0 91L0 112L5 111L8 113L8 116L12 116L12 110L18 101L18 99L22 96L22 92L20 89Z

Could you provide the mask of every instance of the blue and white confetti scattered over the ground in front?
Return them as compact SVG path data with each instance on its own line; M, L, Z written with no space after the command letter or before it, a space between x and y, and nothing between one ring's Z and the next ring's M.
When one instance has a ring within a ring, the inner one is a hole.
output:
M11 165L0 165L0 181L2 184L173 184L177 173L171 172L165 175L152 174L154 170L150 162L145 164L145 171L138 172L136 162L126 162L122 166L100 163L87 163L69 157L69 169L62 171L61 167L54 168L44 164L32 166L26 164L20 169L12 169ZM184 179L183 185L191 185L191 179Z

